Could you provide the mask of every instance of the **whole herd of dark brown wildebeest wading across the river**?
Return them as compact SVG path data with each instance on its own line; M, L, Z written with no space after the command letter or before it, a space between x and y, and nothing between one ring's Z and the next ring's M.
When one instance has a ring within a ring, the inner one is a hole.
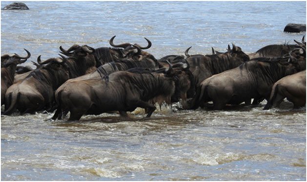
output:
M143 108L146 117L156 103L181 103L183 109L224 109L226 105L278 107L287 98L294 108L306 105L306 41L267 45L246 55L234 44L225 53L166 55L156 59L148 45L114 44L113 48L73 45L61 57L37 58L36 69L18 66L30 56L1 56L1 106L4 115L48 110L52 119L80 120ZM253 99L253 100L251 100ZM251 102L253 101L253 102ZM208 103L210 102L210 103ZM211 103L213 102L213 104Z

